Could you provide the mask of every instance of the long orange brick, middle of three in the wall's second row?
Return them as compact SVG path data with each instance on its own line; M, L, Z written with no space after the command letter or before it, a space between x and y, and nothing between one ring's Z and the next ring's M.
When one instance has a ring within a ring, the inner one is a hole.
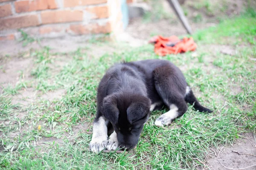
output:
M62 10L62 11L42 11L42 24L67 23L83 20L83 11Z

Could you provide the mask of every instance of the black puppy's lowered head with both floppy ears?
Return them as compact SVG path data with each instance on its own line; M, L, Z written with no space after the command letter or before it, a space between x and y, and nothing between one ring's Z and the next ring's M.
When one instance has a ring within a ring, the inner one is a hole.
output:
M119 146L134 148L148 120L151 101L145 96L114 94L105 97L102 112L117 134Z

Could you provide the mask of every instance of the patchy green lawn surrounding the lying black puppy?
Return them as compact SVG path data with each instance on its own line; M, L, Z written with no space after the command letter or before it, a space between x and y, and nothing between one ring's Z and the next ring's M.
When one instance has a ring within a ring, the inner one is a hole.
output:
M0 169L205 168L201 162L209 148L233 144L246 132L255 133L256 69L250 60L256 57L256 48L251 45L256 37L254 23L253 15L223 21L193 35L198 42L197 56L191 52L166 56L182 68L202 105L214 112L198 113L189 106L171 126L157 127L154 121L165 111L154 111L135 149L122 154L88 151L91 134L86 131L92 130L99 80L115 62L162 57L154 54L151 45L95 59L79 49L66 54L70 60L58 68L55 66L63 56L50 54L49 48L35 51L31 54L31 82L9 86L0 95ZM225 55L218 49L209 52L204 44L211 43L235 44L236 54ZM12 104L27 86L42 94L60 89L65 93L51 101ZM88 129L75 131L83 123L89 124Z

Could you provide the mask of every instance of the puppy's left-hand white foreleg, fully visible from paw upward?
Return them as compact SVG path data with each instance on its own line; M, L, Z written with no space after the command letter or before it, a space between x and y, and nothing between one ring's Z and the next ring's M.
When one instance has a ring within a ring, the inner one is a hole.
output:
M98 153L104 150L108 144L108 127L103 117L100 117L98 122L93 123L93 137L90 142L90 150Z

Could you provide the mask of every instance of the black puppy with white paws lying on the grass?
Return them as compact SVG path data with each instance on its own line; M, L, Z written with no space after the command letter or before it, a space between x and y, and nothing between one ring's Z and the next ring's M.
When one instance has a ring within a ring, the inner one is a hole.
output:
M149 59L116 64L99 83L90 150L133 148L150 111L166 105L170 110L155 125L169 125L187 111L187 102L200 112L212 112L199 104L180 69L171 62ZM109 125L114 131L108 138Z

